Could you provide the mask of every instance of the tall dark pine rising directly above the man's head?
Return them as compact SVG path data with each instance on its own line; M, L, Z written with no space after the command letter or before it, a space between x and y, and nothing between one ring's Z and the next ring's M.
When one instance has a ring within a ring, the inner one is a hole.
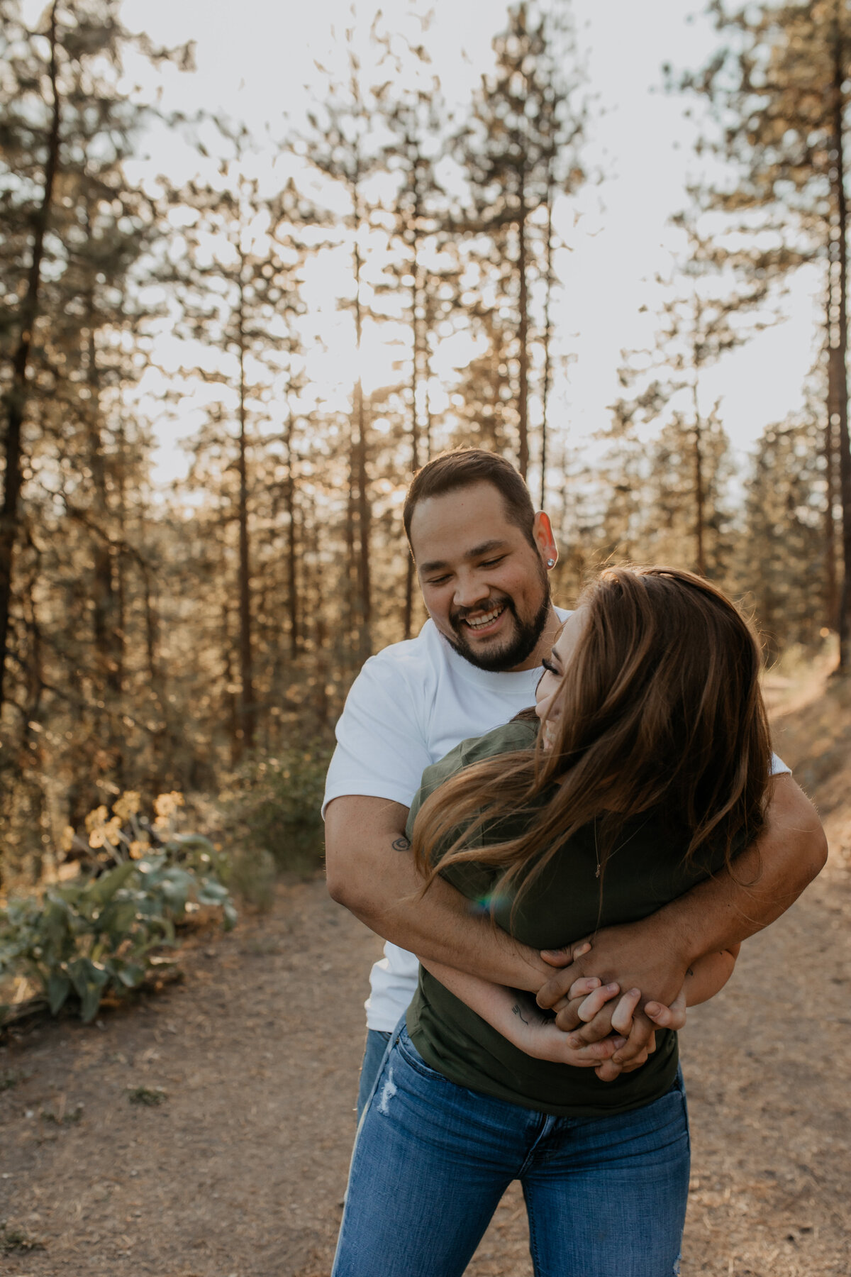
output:
M579 75L569 33L554 31L546 14L524 3L509 9L508 29L494 50L496 69L482 79L458 139L471 202L459 217L478 240L471 245L481 269L478 327L494 342L494 386L485 402L504 402L505 384L510 388L517 465L526 478L536 342L544 346L544 410L549 395L552 206L583 180L584 112L575 102ZM542 319L540 308L536 318L538 286L546 298ZM509 416L505 407L503 416Z

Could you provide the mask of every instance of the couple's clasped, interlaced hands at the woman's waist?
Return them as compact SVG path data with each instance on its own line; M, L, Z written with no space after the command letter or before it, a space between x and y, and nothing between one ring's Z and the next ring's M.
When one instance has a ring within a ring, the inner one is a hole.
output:
M581 940L542 951L554 973L536 1001L556 1016L538 1023L536 1055L593 1068L612 1082L646 1062L657 1028L683 1028L686 962L661 945L648 953L647 937L642 951L632 953L632 940L628 928L610 927L593 945ZM642 986L658 996L646 1000Z

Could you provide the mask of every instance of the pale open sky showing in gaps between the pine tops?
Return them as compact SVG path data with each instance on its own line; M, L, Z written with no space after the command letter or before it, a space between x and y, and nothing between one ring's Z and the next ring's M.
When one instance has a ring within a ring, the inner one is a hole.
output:
M558 4L559 0L551 0ZM388 27L427 11L425 0L384 0ZM551 405L552 424L574 441L607 421L618 396L621 350L647 346L652 280L669 273L677 238L666 225L685 202L684 183L694 172L694 124L686 103L662 89L662 63L702 64L716 45L708 20L683 0L574 0L578 40L595 94L584 161L602 180L579 193L574 225L563 227L572 252L559 269L564 298L558 315L565 346L575 354ZM281 116L299 120L310 105L319 74L314 59L333 63L333 32L352 24L350 0L125 0L125 22L154 41L196 41L198 72L172 75L170 105L223 110L262 133L281 133ZM357 5L357 28L369 29L373 4ZM490 41L504 26L499 0L436 0L427 47L444 93L458 105L492 63ZM337 45L337 52L339 46ZM158 140L158 147L167 140ZM154 163L170 157L156 153ZM172 157L174 158L174 157ZM570 218L570 222L573 218ZM651 282L648 282L651 281ZM708 400L722 397L722 420L737 450L746 450L769 421L801 401L813 360L817 281L801 273L787 301L786 322L729 355L706 375ZM182 434L196 421L162 427L158 476L184 469Z

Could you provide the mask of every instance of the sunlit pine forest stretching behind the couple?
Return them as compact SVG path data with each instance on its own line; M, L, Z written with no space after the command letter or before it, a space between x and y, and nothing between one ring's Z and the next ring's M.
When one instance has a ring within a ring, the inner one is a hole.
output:
M480 6L463 101L445 14L338 8L325 60L291 15L306 87L258 126L193 106L193 43L130 0L0 0L6 884L108 858L108 820L172 792L236 822L249 894L313 854L346 691L425 617L402 498L447 447L518 465L560 603L671 562L745 600L767 660L851 667L847 5L714 0L693 65L633 51L690 144L630 170L638 220L676 169L666 264L582 429L572 262L611 176L582 4ZM778 324L809 372L743 451L720 387L750 366L774 402L787 369L743 354Z

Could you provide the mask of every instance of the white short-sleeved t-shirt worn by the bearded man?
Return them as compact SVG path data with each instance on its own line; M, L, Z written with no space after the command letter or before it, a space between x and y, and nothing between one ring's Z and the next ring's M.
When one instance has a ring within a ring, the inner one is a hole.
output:
M559 619L570 614L556 608ZM422 773L470 737L484 736L535 704L542 669L491 673L459 656L434 621L416 638L370 656L337 724L325 782L332 798L360 794L410 807ZM774 759L774 771L787 771ZM389 941L370 973L366 1024L392 1032L416 991L418 963Z

